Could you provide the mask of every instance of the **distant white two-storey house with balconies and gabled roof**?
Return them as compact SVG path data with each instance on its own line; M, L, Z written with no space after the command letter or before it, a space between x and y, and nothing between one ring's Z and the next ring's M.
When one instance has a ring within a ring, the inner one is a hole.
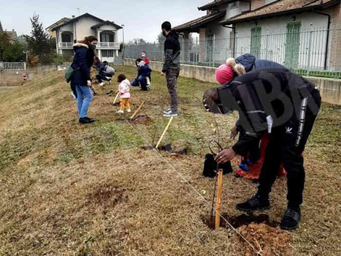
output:
M101 61L114 62L118 56L120 43L118 30L121 26L111 21L104 21L91 14L83 14L79 17L53 28L56 31L57 53L64 56L72 56L73 43L81 41L86 36L98 38L97 56Z

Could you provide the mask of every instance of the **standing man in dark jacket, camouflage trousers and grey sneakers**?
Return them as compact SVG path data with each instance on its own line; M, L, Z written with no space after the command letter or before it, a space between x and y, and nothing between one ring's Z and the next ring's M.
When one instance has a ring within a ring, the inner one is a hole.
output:
M178 92L177 79L180 72L180 43L179 35L172 30L168 21L161 25L162 34L166 37L164 41L164 63L161 71L166 76L168 93L170 96L170 108L164 111L164 117L178 116Z

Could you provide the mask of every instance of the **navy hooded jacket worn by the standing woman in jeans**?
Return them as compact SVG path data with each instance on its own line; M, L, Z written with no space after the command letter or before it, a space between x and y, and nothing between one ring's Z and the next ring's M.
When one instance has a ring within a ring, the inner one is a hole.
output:
M87 86L90 78L90 68L94 64L94 51L89 50L88 45L76 43L73 45L72 68L77 69L71 78L71 86Z

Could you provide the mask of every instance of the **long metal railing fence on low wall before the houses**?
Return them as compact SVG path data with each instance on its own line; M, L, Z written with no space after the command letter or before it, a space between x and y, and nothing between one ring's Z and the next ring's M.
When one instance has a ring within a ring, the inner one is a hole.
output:
M245 53L278 62L302 75L341 78L341 28L287 28L283 33L251 33L229 38L181 40L181 63L218 67ZM149 60L163 61L163 44L127 45L125 58L145 51Z

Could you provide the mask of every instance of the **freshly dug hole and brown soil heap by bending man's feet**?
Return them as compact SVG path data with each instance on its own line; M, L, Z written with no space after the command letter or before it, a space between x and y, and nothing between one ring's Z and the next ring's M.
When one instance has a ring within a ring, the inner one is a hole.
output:
M263 256L290 254L292 250L289 246L290 233L281 230L278 227L279 222L270 221L269 215L241 214L229 217L222 214L222 216ZM212 219L207 216L201 216L201 218L210 229L214 229L214 216ZM222 218L220 219L220 227L231 228ZM253 248L236 232L231 239L242 250L244 256L257 255Z

